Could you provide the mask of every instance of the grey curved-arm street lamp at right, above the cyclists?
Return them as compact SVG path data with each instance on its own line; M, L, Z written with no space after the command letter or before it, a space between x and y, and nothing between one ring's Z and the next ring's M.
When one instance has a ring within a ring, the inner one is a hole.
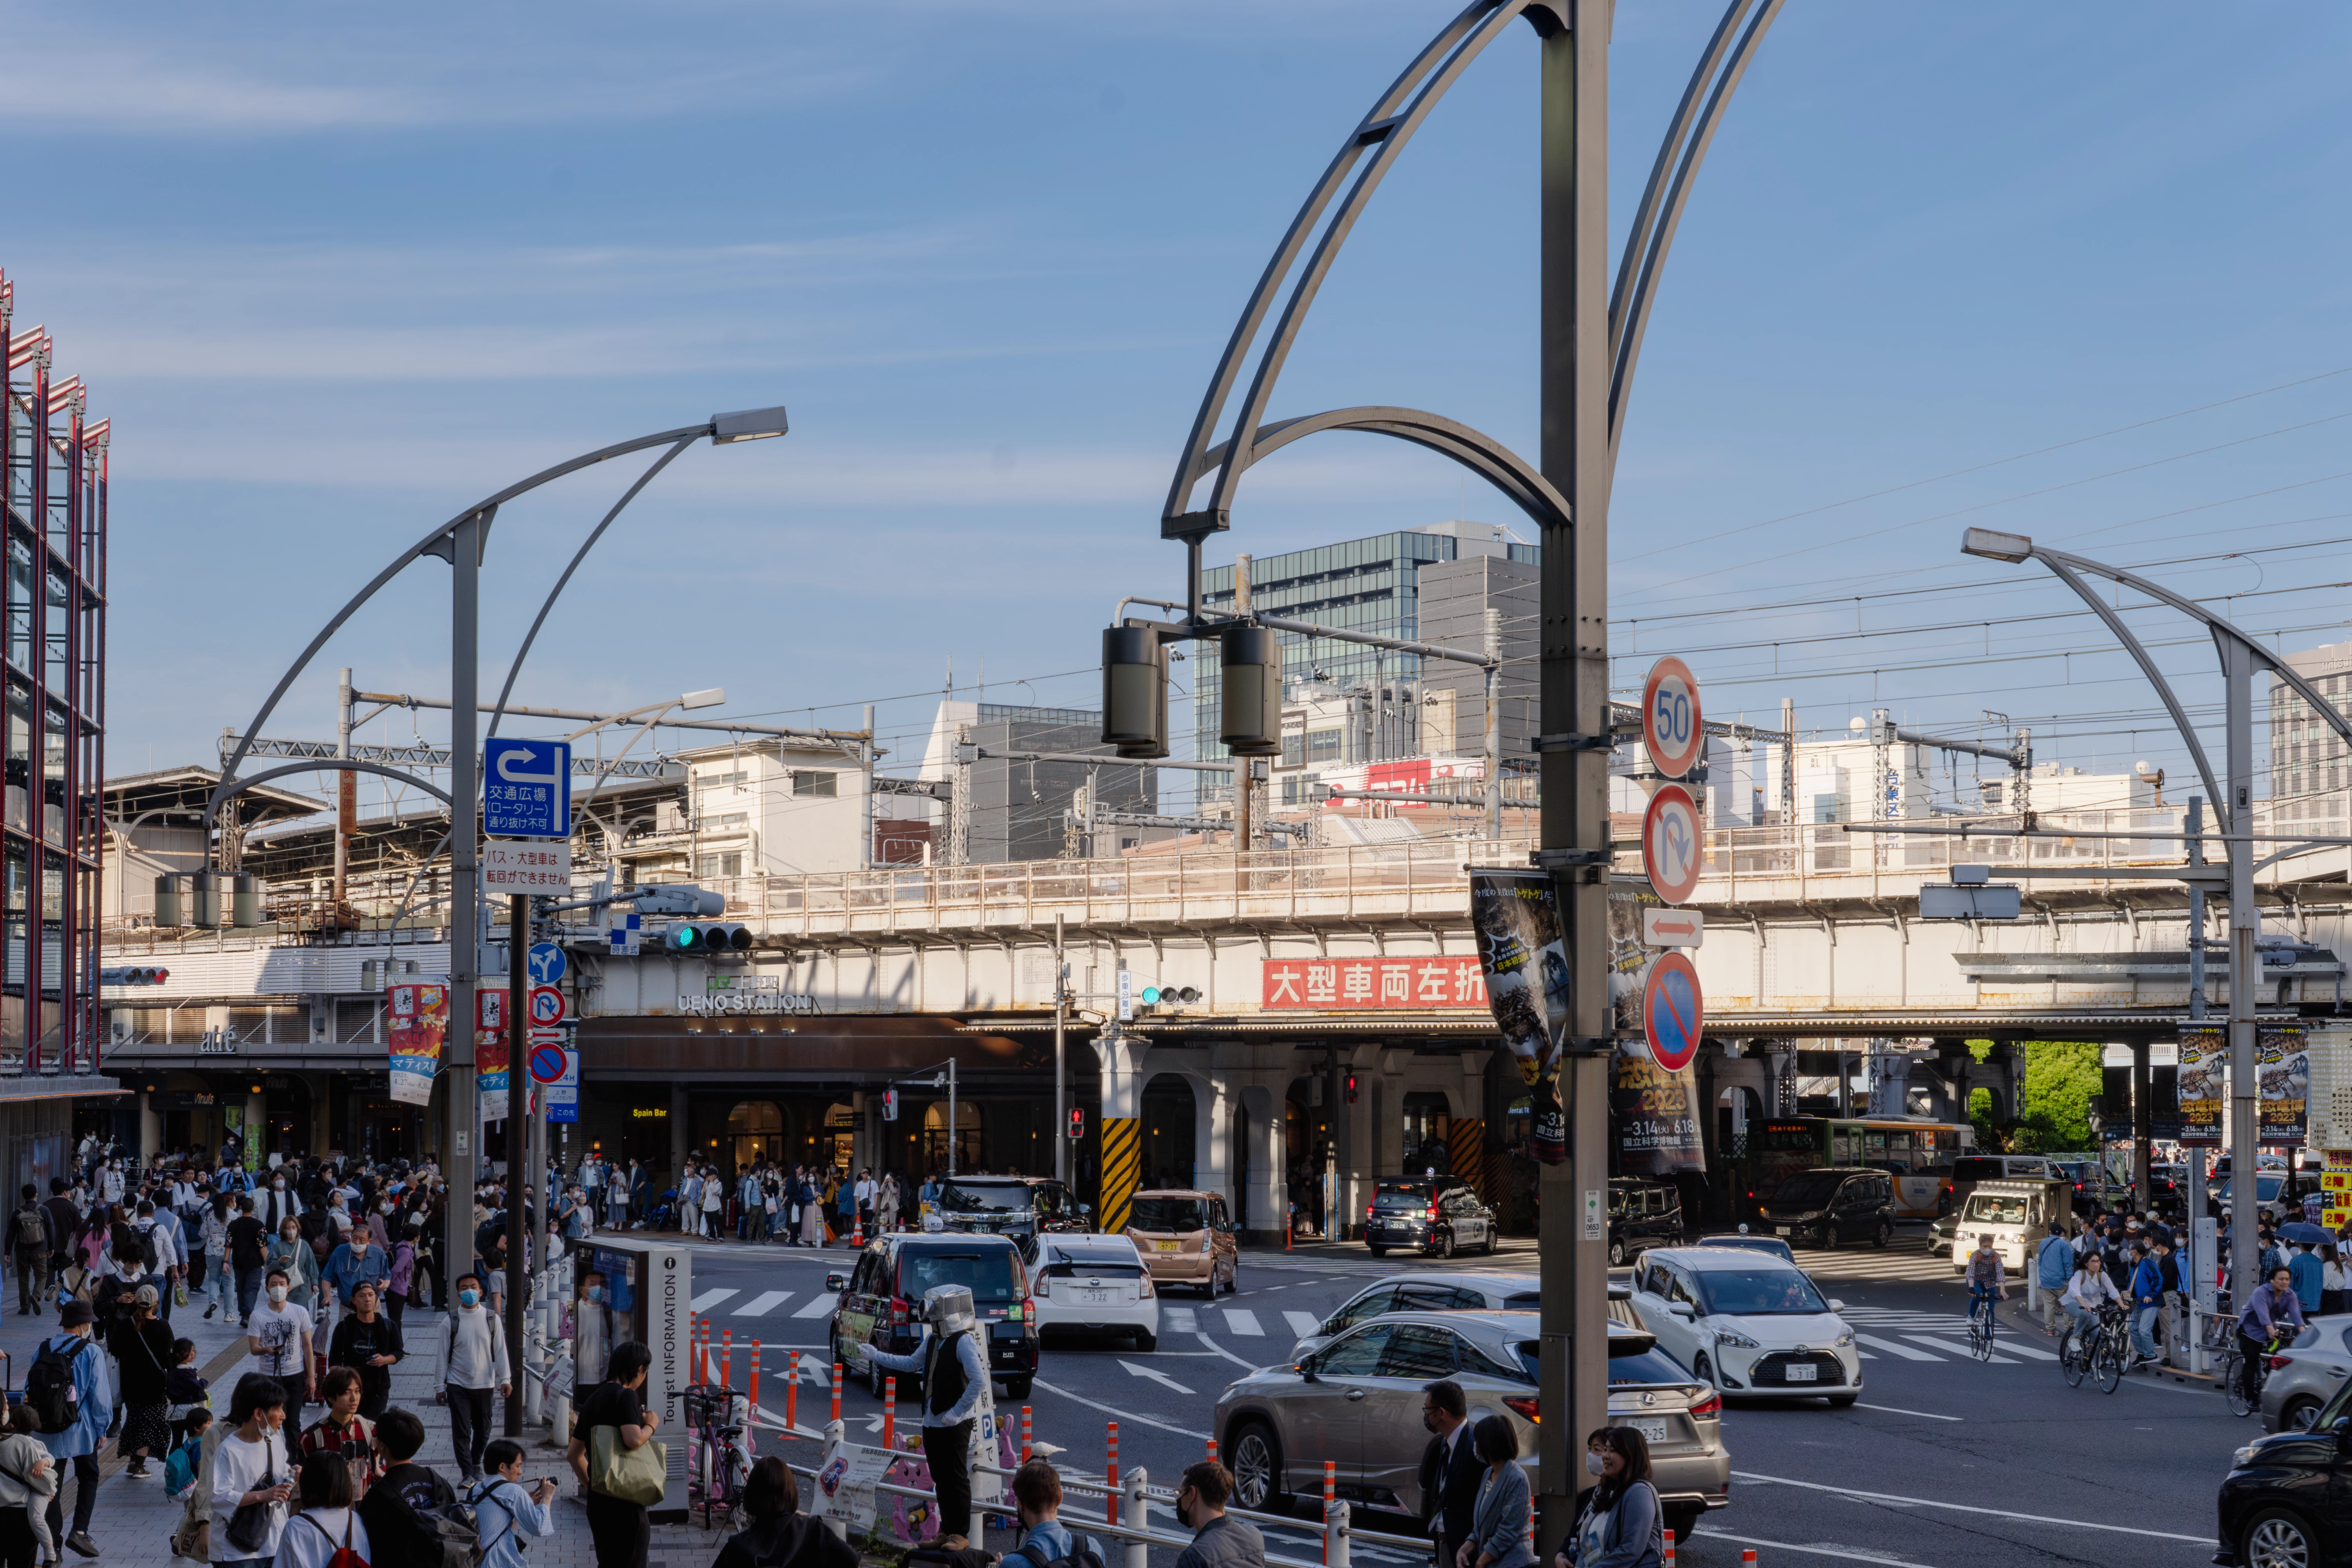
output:
M2223 898L2230 905L2230 1234L2237 1244L2230 1248L2230 1300L2244 1309L2253 1300L2253 1269L2256 1248L2246 1244L2253 1237L2256 1220L2260 1215L2260 1192L2253 1180L2246 1180L2256 1159L2256 1103L2260 1100L2260 1072L2256 1070L2256 1039L2253 1039L2253 1004L2260 983L2260 954L2256 950L2256 936L2260 933L2263 914L2253 900L2253 672L2258 668L2270 670L2286 684L2296 696L2310 703L2312 712L2328 722L2328 726L2352 743L2352 719L2336 712L2336 705L2307 682L2303 675L2291 670L2284 658L2265 649L2253 639L2251 632L2241 630L2232 621L2216 616L2204 604L2164 588L2161 583L2150 583L2147 578L2126 571L2122 567L2107 567L2093 562L2084 555L2067 555L2065 550L2051 550L2037 545L2025 534L2002 534L1997 529L1969 529L1962 534L1959 548L1964 555L1978 555L1994 562L2042 562L2051 574L2074 590L2084 604L2114 632L2114 639L2124 644L2133 663L2140 665L2140 675L2147 684L2157 689L2157 698L2164 703L2164 712L2171 715L2173 729L2180 731L2180 743L2190 750L2190 762L2197 764L2197 778L2204 780L2206 799L2216 802L2216 825L2220 827L2223 853L2227 858L2227 882ZM2187 719L2187 710L2173 693L2171 682L2157 670L2157 661L2150 658L2147 649L2112 604L2098 597L2084 578L2098 576L2110 583L2143 592L2150 599L2178 609L2183 616L2197 621L2213 637L2213 649L2220 654L2223 672L2223 759L2230 771L2230 788L2213 788L2213 764L2206 759L2204 741ZM2197 816L2192 809L2190 827L2194 832ZM2293 853L2279 851L2272 860ZM2190 867L2183 867L2194 877L2194 867L2201 860L2197 842L2190 842ZM2194 884L2192 884L2194 886ZM2197 922L2192 922L2197 924ZM2192 952L2204 952L2204 929L2190 931ZM2145 1143L2140 1145L2147 1147ZM2140 1168L2143 1197L2147 1194L2145 1180L2147 1171ZM2190 1220L2194 1222L2194 1213Z

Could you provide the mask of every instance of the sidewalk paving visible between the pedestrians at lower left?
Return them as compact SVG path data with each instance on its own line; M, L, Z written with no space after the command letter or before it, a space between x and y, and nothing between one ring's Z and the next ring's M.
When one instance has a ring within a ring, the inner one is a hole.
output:
M56 1314L52 1309L45 1316L19 1316L14 1307L14 1276L7 1279L7 1295L0 1300L7 1302L7 1316L0 1319L0 1352L9 1356L9 1385L21 1389L24 1373L33 1363L40 1340L56 1333ZM238 1328L226 1326L219 1314L212 1321L205 1321L202 1314L202 1298L195 1298L195 1305L191 1307L174 1307L172 1333L195 1340L198 1363L212 1382L214 1420L226 1420L230 1389L235 1389L242 1373L254 1371L254 1359L247 1354L245 1338ZM433 1403L433 1352L440 1342L440 1312L409 1309L402 1321L402 1338L409 1345L409 1354L393 1368L393 1403L414 1410L426 1425L426 1446L416 1458L456 1486L456 1462L449 1446L449 1410ZM503 1410L503 1401L499 1408ZM320 1415L322 1406L313 1403L303 1410L301 1425L308 1425ZM292 1413L287 1415L287 1432L289 1436L299 1432ZM661 1436L673 1443L682 1441L680 1425L663 1422ZM522 1474L527 1479L555 1476L562 1483L555 1502L555 1537L534 1540L529 1544L527 1561L532 1568L595 1568L595 1547L588 1537L588 1514L579 1500L579 1483L562 1462L562 1448L550 1446L546 1427L527 1429L522 1443ZM807 1462L807 1455L800 1455L800 1462ZM108 1443L99 1458L99 1507L89 1521L89 1537L99 1544L96 1561L108 1568L193 1568L186 1559L172 1556L169 1535L179 1526L181 1500L165 1497L162 1462L155 1460L151 1465L153 1479L148 1481L134 1481L125 1474L125 1460L115 1458L113 1443ZM71 1469L64 1509L71 1528ZM654 1526L654 1544L647 1559L649 1568L708 1568L708 1563L717 1559L720 1547L727 1542L727 1523L710 1530L703 1530L699 1523ZM78 1568L82 1559L66 1552L66 1563L68 1568ZM405 1566L386 1563L383 1568Z

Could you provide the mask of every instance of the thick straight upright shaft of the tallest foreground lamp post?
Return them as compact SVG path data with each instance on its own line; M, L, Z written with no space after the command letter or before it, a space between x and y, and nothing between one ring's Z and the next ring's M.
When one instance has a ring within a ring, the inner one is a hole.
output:
M1609 12L1576 0L1573 28L1543 40L1541 386L1543 477L1569 524L1543 527L1541 712L1545 736L1609 733ZM1545 750L1541 844L1562 893L1571 1034L1611 1034L1609 752ZM1557 851L1590 856L1562 865ZM1548 1561L1585 1486L1576 1450L1609 1420L1609 1058L1566 1056L1559 1105L1569 1159L1543 1168L1538 1552Z

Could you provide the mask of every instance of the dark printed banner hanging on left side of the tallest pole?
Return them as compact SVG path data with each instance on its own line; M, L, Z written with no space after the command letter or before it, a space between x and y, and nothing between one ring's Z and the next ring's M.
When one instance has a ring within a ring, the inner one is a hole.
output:
M1569 950L1562 940L1559 889L1550 872L1470 870L1470 924L1477 931L1486 1006L1529 1086L1538 1161L1569 1157L1559 1112L1559 1051L1569 1037Z

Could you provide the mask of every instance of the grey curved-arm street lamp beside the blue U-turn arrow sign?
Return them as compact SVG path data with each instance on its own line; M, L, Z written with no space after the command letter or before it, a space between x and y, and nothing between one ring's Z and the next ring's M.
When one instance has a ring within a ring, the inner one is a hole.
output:
M482 898L480 898L480 842L482 842L482 818L480 818L480 644L482 644L482 552L489 543L489 524L499 515L499 508L508 501L524 496L541 484L562 480L564 475L579 473L581 468L593 468L597 463L628 456L633 451L647 451L654 447L666 447L666 451L654 458L654 463L637 477L628 491L604 512L602 522L588 531L581 548L572 555L562 576L555 578L555 588L548 590L546 602L539 607L539 616L532 621L522 637L522 646L515 651L513 665L506 670L506 684L499 691L499 705L489 717L489 733L499 731L499 719L506 717L506 698L515 691L515 675L522 672L522 661L532 651L532 642L539 637L539 628L546 623L548 611L555 607L557 595L572 583L572 574L588 557L588 550L604 536L612 522L621 515L630 501L659 475L670 461L682 454L694 442L710 437L713 447L727 447L734 442L755 442L776 435L786 435L786 411L774 409L743 409L739 414L713 414L699 425L680 425L677 430L661 430L659 435L640 435L630 442L619 442L614 447L600 447L595 451L581 454L553 468L510 484L499 494L477 501L466 508L442 527L433 529L414 545L400 552L390 567L379 571L367 588L362 588L343 609L320 628L310 646L287 665L285 675L278 677L278 686L270 689L268 701L261 703L261 712L254 715L252 724L238 738L238 750L221 766L221 783L212 790L205 802L205 827L207 846L214 844L214 820L221 806L252 790L254 785L278 778L282 773L315 773L315 771L369 771L383 773L388 778L402 778L414 783L419 790L449 802L449 1034L445 1041L445 1077L449 1079L449 1107L445 1121L445 1145L442 1145L442 1171L449 1180L449 1251L459 1253L456 1265L470 1267L473 1248L473 1185L480 1168L480 1150L475 1147L473 1133L480 1126L480 1103L475 1098L475 990L477 971L482 961ZM412 562L423 555L437 555L449 562L449 790L442 792L430 780L390 769L383 764L353 762L348 757L336 757L332 762L303 762L296 766L268 769L254 773L252 778L238 778L238 766L254 745L254 736L268 724L270 712L294 686L301 672L310 665L327 639L334 637L350 616L360 611L376 592L400 576ZM214 851L214 860L216 860ZM207 870L212 870L207 865ZM520 1009L522 997L510 997L508 1006ZM517 1011L520 1016L520 1011ZM524 1063L517 1058L508 1065L508 1095L510 1110L515 1107L515 1095L529 1081L522 1077ZM510 1117L510 1133L520 1133L522 1119ZM510 1267L522 1267L522 1204L513 1201L517 1185L522 1182L522 1168L517 1161L508 1161L513 1168L508 1173L508 1258ZM546 1206L539 1208L546 1213ZM508 1342L522 1342L522 1291L508 1291ZM522 1387L517 1382L515 1396L508 1401L508 1434L520 1432L522 1413Z

